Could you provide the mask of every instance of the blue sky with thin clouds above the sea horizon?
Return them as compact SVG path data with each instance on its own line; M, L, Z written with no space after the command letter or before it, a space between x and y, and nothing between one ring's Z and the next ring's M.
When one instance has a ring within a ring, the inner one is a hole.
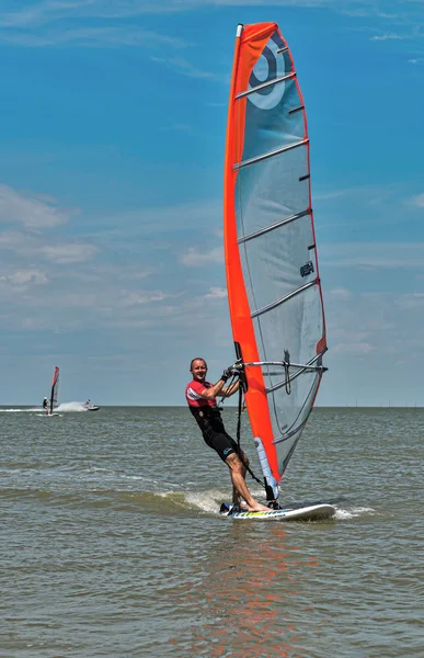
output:
M233 360L222 158L236 27L275 21L305 97L326 310L319 405L424 405L424 5L0 8L0 404L181 405Z

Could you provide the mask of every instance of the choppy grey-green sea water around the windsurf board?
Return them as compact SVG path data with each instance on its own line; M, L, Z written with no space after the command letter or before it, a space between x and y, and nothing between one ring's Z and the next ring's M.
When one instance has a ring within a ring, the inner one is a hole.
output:
M313 523L220 517L185 408L77 411L0 409L1 656L424 656L423 409L312 412L282 502Z

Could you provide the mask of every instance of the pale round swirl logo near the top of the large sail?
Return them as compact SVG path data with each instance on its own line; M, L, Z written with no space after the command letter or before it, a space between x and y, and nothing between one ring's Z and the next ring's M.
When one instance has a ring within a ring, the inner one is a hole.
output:
M277 42L278 39L278 42ZM278 53L284 46L278 34L274 34L268 41L265 48L262 50L255 67L250 76L249 89L254 89L259 84L263 84L268 80L280 78L286 72L283 53ZM260 110L273 110L283 99L286 83L278 82L277 84L266 87L248 95L248 100L260 107Z

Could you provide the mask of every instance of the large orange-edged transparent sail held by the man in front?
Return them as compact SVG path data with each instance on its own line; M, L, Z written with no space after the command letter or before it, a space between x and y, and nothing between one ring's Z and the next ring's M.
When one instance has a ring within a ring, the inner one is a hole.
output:
M249 418L276 497L312 409L326 351L306 113L291 53L276 23L239 25L237 32L225 253Z

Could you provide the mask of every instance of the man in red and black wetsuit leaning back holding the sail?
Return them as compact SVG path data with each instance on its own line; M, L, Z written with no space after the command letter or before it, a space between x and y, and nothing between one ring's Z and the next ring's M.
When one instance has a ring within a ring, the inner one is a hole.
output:
M236 441L227 433L220 411L217 407L217 397L228 397L239 389L239 382L225 387L231 376L231 368L224 371L216 384L206 382L207 364L204 359L196 358L190 364L193 381L185 389L185 398L190 410L200 428L205 443L215 450L222 462L230 469L232 481L232 502L240 507L241 498L245 500L250 512L270 511L249 492L245 484L247 466L249 460Z

